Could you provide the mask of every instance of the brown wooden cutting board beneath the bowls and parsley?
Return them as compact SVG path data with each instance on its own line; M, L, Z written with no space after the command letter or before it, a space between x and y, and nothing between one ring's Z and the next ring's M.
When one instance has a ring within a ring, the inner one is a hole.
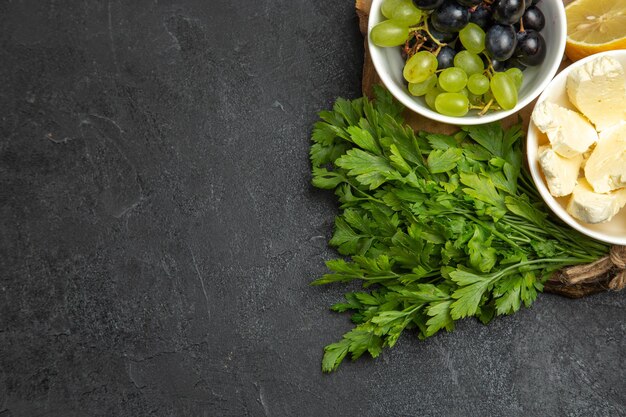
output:
M552 1L552 0L544 0L544 1ZM572 0L564 1L565 4L569 3ZM363 34L364 44L365 44L365 59L363 61L363 79L362 79L362 89L363 94L372 97L372 88L376 84L382 84L378 74L376 73L376 69L374 68L374 64L370 58L369 49L367 45L367 22L369 18L369 12L372 5L372 0L356 0L356 13L359 17L359 28L361 33ZM561 63L561 67L559 71L566 66L568 66L571 62L564 58ZM535 101L530 103L528 106L524 107L519 113L513 114L502 121L502 124L505 127L508 127L518 121L518 115L522 117L522 121L524 124L524 130L528 128L528 122L530 121L530 114L535 105ZM430 120L424 116L421 116L417 113L414 113L410 110L405 111L405 120L407 123L416 130L426 130L429 132L436 133L453 133L457 131L459 128L457 126L436 122ZM608 258L608 257L607 257ZM602 262L607 262L607 258L603 258ZM600 262L600 261L599 261ZM590 265L589 268L593 268L593 265ZM593 278L592 282L583 282L572 284L568 282L565 275L566 274L555 274L545 285L545 291L556 293L560 295L564 295L566 297L571 298L579 298L584 297L586 295L606 291L609 289L609 281L617 274L618 271L616 269L611 269L606 274L600 277ZM626 276L626 271L624 271Z

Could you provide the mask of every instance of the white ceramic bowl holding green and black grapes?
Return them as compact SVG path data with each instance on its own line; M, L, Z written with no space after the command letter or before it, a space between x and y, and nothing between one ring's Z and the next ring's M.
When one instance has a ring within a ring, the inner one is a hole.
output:
M541 32L546 40L546 59L543 64L524 70L524 83L519 92L517 106L511 110L490 111L484 116L479 116L476 110L470 111L463 117L444 116L431 110L423 97L414 97L409 94L402 77L404 60L400 54L400 47L384 48L372 43L369 37L370 31L377 23L386 19L380 11L382 2L383 0L372 2L367 30L367 41L376 72L385 87L396 99L414 112L432 120L455 125L478 125L500 120L517 113L546 88L563 59L567 30L563 2L561 0L545 0L540 2L538 7L546 17L546 26Z

